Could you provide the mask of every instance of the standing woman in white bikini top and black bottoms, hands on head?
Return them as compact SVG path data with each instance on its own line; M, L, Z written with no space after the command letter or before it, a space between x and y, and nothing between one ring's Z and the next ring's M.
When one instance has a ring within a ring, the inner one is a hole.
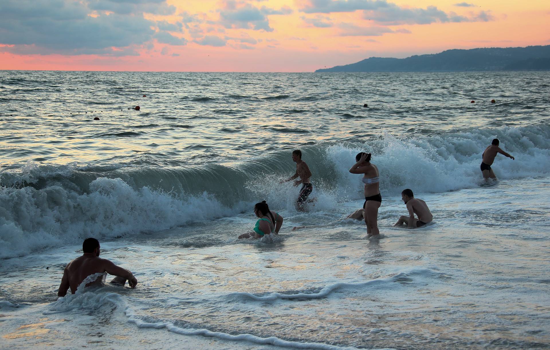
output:
M382 204L380 195L379 173L376 165L371 164L371 154L360 152L355 156L357 161L349 172L352 174L365 174L361 181L365 184L365 224L367 225L367 237L377 236L378 231L378 208Z

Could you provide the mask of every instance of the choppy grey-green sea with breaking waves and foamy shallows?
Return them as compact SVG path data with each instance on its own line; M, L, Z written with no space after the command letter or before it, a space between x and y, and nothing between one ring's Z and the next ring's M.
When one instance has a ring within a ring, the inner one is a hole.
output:
M549 116L549 72L0 70L0 347L550 348ZM262 200L280 234L238 239ZM57 297L88 237L135 289Z

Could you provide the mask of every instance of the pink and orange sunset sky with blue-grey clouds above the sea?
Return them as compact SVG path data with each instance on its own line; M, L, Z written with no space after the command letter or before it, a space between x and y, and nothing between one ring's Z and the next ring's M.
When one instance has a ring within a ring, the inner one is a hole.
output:
M0 69L312 72L550 45L548 0L0 0Z

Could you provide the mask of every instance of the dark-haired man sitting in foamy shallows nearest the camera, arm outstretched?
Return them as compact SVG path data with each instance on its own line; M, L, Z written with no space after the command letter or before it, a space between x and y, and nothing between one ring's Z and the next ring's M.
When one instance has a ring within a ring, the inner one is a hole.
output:
M63 278L58 297L64 297L67 294L67 290L70 287L71 293L76 293L76 288L85 280L86 277L107 272L109 275L118 276L114 278L112 283L121 284L124 286L126 280L130 287L135 288L138 284L138 280L132 275L132 273L122 267L114 265L112 261L107 259L101 259L100 256L100 242L95 238L87 238L82 244L82 250L84 254L69 262L65 266L63 271ZM96 281L91 283L101 283L102 277L98 277ZM91 284L89 283L89 284Z

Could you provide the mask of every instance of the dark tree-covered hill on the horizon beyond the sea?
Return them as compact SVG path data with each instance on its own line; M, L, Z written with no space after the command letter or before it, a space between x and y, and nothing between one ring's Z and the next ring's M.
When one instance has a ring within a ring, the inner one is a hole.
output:
M550 45L447 50L407 58L371 57L315 72L480 72L550 70Z

